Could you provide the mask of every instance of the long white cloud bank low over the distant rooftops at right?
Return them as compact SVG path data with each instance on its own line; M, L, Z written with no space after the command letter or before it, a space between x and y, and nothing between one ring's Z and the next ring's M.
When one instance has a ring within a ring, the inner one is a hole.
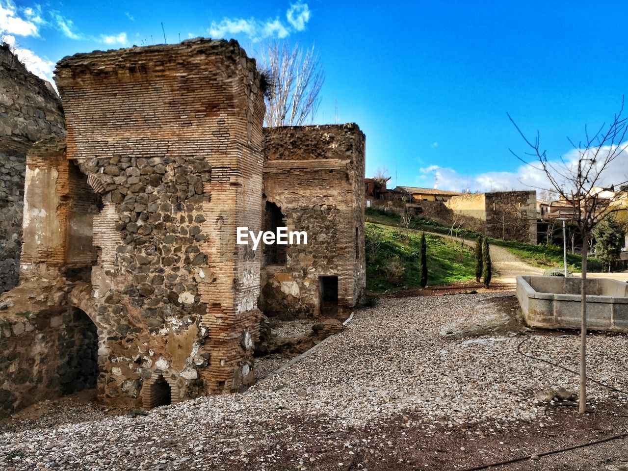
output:
M628 143L622 144L621 147ZM608 151L608 149L606 149ZM514 156L512 157L514 159ZM573 170L577 166L578 151L572 149L568 152L563 160L552 161L551 164L556 169ZM534 162L533 162L534 165ZM438 170L438 188L443 190L465 191L471 192L490 192L490 191L507 191L507 190L551 190L553 187L545 175L543 170L522 164L516 171L489 171L476 174L463 174L453 170L453 168L440 167L438 165L430 165L419 170L416 180L425 183L433 178L433 172ZM600 175L600 180L596 183L600 187L610 187L610 185L619 185L628 180L628 153L626 151L610 163L609 167ZM553 172L555 178L560 178L557 172ZM559 184L565 182L559 180ZM566 185L566 183L565 183Z

